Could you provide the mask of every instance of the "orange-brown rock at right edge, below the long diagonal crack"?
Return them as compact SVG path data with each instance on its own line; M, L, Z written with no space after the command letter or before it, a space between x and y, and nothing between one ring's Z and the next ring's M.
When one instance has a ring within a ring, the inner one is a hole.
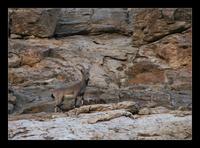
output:
M144 45L139 49L139 54L160 67L172 69L190 67L192 65L192 28ZM136 61L139 59L142 58Z

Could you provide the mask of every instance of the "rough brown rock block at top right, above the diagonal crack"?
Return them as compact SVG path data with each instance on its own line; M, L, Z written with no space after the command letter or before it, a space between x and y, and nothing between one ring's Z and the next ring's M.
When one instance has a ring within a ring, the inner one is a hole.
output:
M164 15L162 14L163 10ZM171 14L174 14L175 11L175 9L168 9L168 13ZM166 14L164 8L161 10L149 8L139 12L134 18L133 44L135 46L148 44L168 34L183 32L191 26L185 20L174 20L174 16Z

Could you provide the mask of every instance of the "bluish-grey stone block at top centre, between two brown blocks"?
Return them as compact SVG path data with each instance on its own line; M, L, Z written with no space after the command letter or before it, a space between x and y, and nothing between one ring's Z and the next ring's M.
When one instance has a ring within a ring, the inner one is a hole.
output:
M62 8L56 36L122 33L130 35L127 8Z

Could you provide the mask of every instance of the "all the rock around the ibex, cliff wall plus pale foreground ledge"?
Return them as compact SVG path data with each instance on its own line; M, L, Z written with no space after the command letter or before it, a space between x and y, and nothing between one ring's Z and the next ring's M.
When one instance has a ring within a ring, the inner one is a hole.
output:
M192 9L8 9L9 140L191 140ZM54 113L53 89L84 100Z

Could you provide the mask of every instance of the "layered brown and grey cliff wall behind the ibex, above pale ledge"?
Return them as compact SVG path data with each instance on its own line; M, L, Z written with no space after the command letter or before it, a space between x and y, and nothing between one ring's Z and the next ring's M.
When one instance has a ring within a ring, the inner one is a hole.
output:
M132 101L140 109L191 110L191 9L12 8L8 15L8 112L12 116L53 112L51 90L81 79L76 64L91 66L83 107ZM114 139L123 139L120 136Z

